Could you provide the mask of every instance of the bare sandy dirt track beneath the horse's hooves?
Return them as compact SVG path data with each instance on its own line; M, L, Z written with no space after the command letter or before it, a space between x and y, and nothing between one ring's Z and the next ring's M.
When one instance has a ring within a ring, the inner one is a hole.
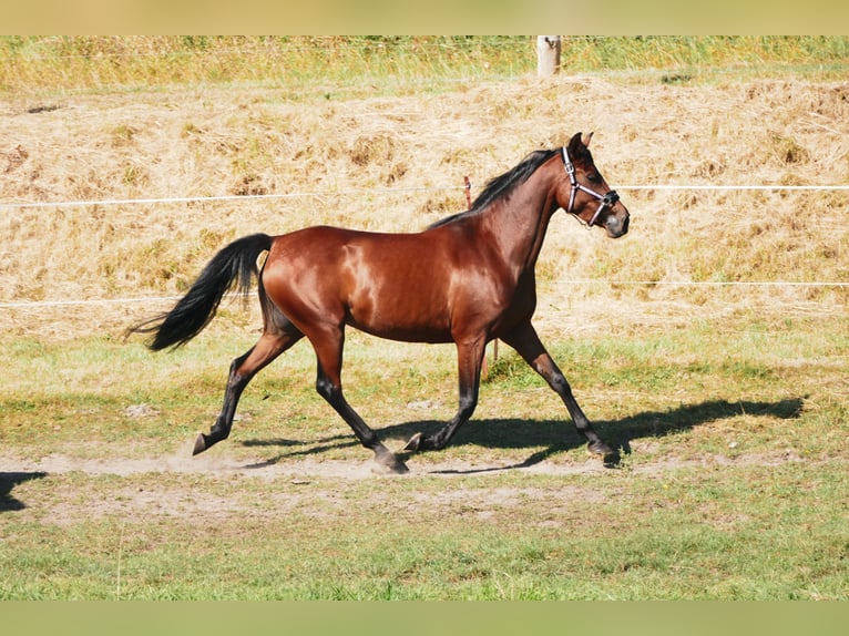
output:
M794 453L778 455L747 455L737 459L706 457L699 460L664 458L633 468L618 469L635 475L664 475L684 469L709 469L717 465L778 465L785 462L804 461ZM111 457L103 459L80 459L54 453L39 460L0 455L0 474L39 474L58 478L57 486L41 494L28 493L29 514L42 523L69 525L98 519L120 517L129 523L164 522L168 520L193 520L197 523L215 523L252 514L285 517L291 513L315 517L345 514L350 505L344 492L356 489L364 480L417 480L440 478L454 482L440 488L438 493L412 493L403 501L387 484L379 485L368 496L368 505L393 509L396 513L432 509L436 515L464 515L485 521L504 511L519 510L528 505L548 506L553 517L573 511L581 514L587 504L605 499L602 490L592 485L563 483L556 486L488 486L485 483L457 483L457 480L507 472L530 475L601 475L610 472L595 460L576 463L540 462L531 466L519 464L483 465L461 461L442 461L416 466L410 462L411 472L400 478L381 478L371 470L371 462L299 460L290 462L250 461L222 457L191 458L180 453L164 458L131 459ZM69 482L75 474L85 478L130 478L104 482L98 493L89 493L79 483ZM157 474L163 479L157 479ZM173 476L192 479L176 483ZM67 479L65 479L67 478ZM245 482L249 480L249 482ZM257 486L253 480L267 482ZM253 485L246 486L249 483ZM244 486L244 488L243 488ZM20 486L27 488L27 486ZM17 494L17 493L16 493ZM553 519L552 517L552 519ZM540 523L545 524L545 520Z

